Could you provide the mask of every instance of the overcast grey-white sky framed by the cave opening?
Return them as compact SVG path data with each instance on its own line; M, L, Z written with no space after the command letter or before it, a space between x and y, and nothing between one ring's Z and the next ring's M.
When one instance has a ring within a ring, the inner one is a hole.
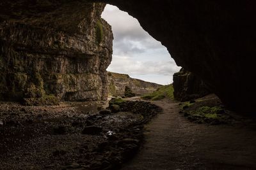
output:
M136 18L116 6L107 5L102 13L114 34L113 59L108 71L132 78L167 85L179 71L167 49L142 29Z

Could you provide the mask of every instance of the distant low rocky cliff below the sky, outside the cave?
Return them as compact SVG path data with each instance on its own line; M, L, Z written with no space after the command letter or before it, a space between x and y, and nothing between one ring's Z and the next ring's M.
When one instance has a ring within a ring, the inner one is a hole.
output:
M128 74L108 72L109 96L125 96L125 87L129 87L136 96L152 93L162 85L131 78Z

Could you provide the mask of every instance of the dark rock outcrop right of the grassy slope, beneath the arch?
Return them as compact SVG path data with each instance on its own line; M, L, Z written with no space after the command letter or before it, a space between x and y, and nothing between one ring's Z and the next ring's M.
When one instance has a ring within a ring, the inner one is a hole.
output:
M210 93L204 81L183 68L173 74L173 89L173 96L179 101L189 101Z

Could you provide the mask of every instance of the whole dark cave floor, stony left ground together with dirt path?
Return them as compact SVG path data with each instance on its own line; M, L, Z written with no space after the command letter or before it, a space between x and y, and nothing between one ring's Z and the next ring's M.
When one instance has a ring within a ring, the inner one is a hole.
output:
M255 120L198 124L180 103L152 103L163 112L140 102L106 115L98 111L104 103L0 103L0 169L256 169ZM83 133L88 126L98 134Z

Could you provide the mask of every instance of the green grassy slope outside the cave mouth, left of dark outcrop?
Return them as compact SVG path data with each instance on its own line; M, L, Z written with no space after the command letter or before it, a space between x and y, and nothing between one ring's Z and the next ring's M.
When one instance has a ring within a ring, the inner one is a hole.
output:
M142 99L145 100L152 100L152 101L158 101L161 99L164 99L165 97L168 97L169 99L173 99L173 85L164 85L163 87L158 88L155 92L152 92L152 94L147 94L145 96L142 96Z

